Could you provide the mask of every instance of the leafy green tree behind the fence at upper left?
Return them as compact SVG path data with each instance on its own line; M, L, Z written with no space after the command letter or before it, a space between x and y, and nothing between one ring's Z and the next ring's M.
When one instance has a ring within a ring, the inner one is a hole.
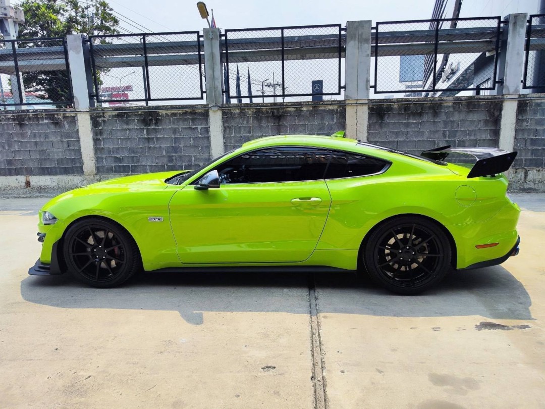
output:
M17 38L33 40L19 42L20 48L59 46L58 40L46 38L68 34L119 34L119 20L105 0L23 0L20 8L25 11L25 23L19 26ZM26 92L51 101L69 100L70 77L67 71L47 70L44 66L40 71L23 73L22 76Z

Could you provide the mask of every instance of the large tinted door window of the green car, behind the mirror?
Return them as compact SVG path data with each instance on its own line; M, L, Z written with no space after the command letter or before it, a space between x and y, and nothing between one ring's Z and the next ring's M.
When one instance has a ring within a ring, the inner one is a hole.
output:
M286 146L247 152L216 168L221 183L298 182L323 179L330 152Z

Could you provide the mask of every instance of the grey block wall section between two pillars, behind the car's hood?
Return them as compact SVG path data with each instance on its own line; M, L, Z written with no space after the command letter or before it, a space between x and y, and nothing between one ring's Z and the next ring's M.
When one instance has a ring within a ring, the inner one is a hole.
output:
M96 172L194 169L210 160L208 109L92 112Z

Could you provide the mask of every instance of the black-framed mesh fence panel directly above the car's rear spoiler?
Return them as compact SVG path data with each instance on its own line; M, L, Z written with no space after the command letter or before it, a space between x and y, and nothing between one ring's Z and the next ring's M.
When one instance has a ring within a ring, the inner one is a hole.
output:
M416 97L494 89L500 17L377 22L374 93Z

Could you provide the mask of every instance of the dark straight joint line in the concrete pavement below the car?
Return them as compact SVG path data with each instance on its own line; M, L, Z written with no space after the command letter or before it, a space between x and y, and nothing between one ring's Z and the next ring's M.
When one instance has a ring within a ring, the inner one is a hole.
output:
M324 360L322 341L320 340L320 325L318 321L318 297L316 296L316 281L314 274L308 274L308 306L310 308L310 332L312 355L312 386L314 388L314 408L327 409L328 399L325 393Z

